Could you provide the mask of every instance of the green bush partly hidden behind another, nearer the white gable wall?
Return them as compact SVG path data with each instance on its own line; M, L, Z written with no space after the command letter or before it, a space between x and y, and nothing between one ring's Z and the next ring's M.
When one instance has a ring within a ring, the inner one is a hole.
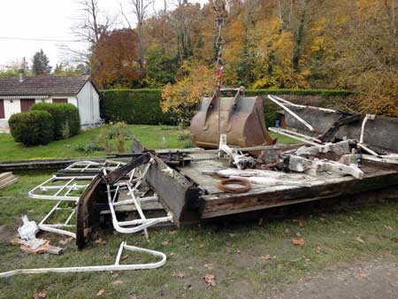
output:
M69 138L80 131L79 110L72 103L35 103L31 110L51 114L54 140Z

